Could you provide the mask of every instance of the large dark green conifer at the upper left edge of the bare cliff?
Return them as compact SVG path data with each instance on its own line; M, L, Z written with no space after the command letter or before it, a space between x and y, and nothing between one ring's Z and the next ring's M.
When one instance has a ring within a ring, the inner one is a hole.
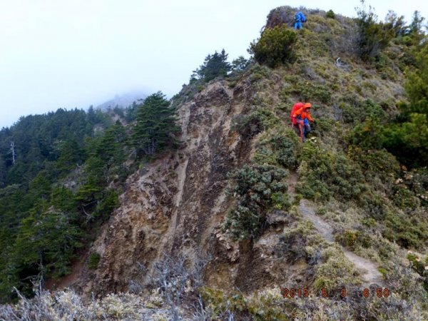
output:
M165 148L175 148L175 134L180 127L175 123L175 108L165 99L161 91L148 96L136 113L132 143L138 156L153 156Z

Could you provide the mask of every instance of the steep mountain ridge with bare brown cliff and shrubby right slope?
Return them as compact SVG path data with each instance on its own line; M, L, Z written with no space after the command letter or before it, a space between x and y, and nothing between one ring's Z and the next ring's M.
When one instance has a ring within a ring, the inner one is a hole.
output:
M111 178L114 194L86 200L93 185L80 190L83 212L104 219L71 286L91 305L113 302L122 319L138 317L126 302L141 297L144 309L168 307L165 320L427 317L426 168L407 170L381 135L412 98L409 39L365 61L354 19L307 10L293 31L284 24L294 12L272 10L258 41L266 30L296 33L295 61L192 78L171 99L177 149L119 157L138 118L86 147L116 164L85 165ZM312 103L305 143L290 126L296 101Z

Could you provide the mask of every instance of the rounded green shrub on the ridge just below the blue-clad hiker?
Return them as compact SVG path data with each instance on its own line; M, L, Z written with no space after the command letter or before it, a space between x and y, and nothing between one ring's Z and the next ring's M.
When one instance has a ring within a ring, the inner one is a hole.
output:
M255 61L258 63L275 68L281 64L295 62L294 47L296 42L297 34L295 31L282 24L273 29L265 29L258 42L253 41L250 44L248 52L254 55Z

